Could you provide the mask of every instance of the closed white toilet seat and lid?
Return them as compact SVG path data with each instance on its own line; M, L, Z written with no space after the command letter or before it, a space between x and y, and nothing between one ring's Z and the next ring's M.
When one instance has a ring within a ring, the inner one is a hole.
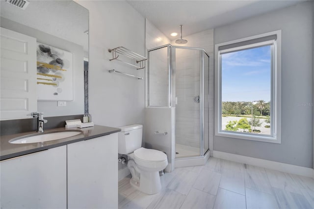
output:
M167 166L168 164L166 154L158 150L146 149L143 147L134 150L133 158L136 164L147 168L158 168Z

